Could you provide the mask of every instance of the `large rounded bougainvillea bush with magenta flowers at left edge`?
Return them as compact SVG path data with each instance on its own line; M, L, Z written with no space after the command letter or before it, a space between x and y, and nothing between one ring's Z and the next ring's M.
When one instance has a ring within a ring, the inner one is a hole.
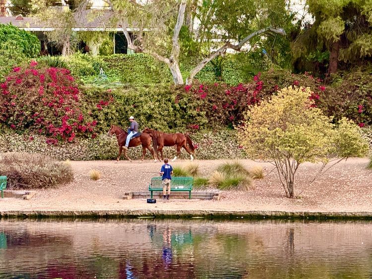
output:
M0 121L11 129L44 135L48 143L95 137L97 122L80 111L81 94L69 70L38 69L32 61L13 68L0 87Z

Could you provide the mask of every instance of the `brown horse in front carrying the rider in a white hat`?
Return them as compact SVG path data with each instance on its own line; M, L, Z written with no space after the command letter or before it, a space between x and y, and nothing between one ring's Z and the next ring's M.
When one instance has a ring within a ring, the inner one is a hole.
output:
M118 140L118 145L119 145L119 156L117 161L119 161L120 156L122 155L123 151L123 146L125 146L125 140L127 136L127 132L125 132L122 128L118 126L111 125L110 130L108 131L109 136L116 135L116 138ZM154 157L155 162L157 162L154 150L151 148L151 136L146 133L142 133L139 137L135 137L129 141L129 147L135 147L138 145L142 145L142 158L141 162L145 158L146 154L146 148L151 152L152 157ZM124 149L124 156L127 160L132 162L128 156L126 156L126 150Z

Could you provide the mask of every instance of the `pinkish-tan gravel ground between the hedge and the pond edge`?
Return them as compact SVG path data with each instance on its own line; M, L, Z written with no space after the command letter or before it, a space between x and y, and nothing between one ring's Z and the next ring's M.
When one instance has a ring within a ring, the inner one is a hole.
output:
M182 166L189 160L171 163ZM208 176L224 160L195 160L201 175ZM0 199L0 210L115 210L115 209L170 209L170 210L283 210L283 211L371 211L372 171L369 160L348 159L316 178L301 199L288 199L278 174L271 164L241 160L246 167L262 166L264 179L255 180L255 190L226 191L220 201L169 200L147 204L145 199L123 200L124 192L147 191L151 177L157 176L162 163L139 161L76 161L71 162L75 180L57 189L37 190L30 200ZM300 166L296 194L307 187L320 165L305 163ZM89 170L96 169L102 178L93 181ZM210 189L216 191L216 189ZM172 193L171 193L172 196Z

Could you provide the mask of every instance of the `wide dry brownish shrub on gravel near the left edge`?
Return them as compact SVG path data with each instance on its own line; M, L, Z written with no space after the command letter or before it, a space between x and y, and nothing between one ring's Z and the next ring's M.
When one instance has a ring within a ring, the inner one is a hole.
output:
M0 175L7 176L9 189L54 188L73 180L70 164L25 152L1 154Z

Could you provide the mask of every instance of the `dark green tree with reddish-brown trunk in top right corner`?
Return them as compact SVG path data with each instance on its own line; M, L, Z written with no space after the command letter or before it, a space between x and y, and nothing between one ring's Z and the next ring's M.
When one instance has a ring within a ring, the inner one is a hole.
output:
M372 55L370 0L309 0L315 21L292 44L294 59L328 61L328 73L340 63L352 65Z

